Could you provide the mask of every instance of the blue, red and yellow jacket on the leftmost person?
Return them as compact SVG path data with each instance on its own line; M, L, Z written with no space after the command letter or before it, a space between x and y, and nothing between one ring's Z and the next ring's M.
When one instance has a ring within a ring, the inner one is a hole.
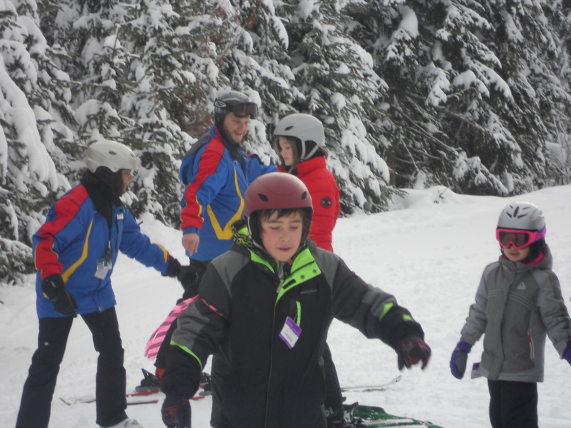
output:
M120 252L163 275L168 252L141 233L132 214L114 207L111 227L95 211L86 188L79 184L49 209L46 223L33 236L38 318L64 317L42 292L42 279L61 274L65 287L78 304L77 313L103 312L116 304L111 272ZM109 250L109 252L108 252ZM108 253L111 268L102 279L95 277L98 260Z

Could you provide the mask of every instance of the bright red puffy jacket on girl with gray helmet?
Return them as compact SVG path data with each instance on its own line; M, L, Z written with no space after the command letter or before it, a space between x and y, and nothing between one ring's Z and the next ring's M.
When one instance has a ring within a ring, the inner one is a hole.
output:
M282 165L279 165L278 170L287 172ZM313 220L309 239L315 242L317 247L333 251L331 232L341 212L339 187L335 177L327 169L323 156L316 156L297 164L297 177L307 186L313 201Z

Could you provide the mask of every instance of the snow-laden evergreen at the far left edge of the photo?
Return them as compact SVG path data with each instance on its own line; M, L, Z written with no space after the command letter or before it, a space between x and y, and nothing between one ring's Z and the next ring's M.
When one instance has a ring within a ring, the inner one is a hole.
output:
M34 272L31 236L70 187L69 78L53 61L59 53L39 29L35 2L0 3L0 34L0 281L19 284Z

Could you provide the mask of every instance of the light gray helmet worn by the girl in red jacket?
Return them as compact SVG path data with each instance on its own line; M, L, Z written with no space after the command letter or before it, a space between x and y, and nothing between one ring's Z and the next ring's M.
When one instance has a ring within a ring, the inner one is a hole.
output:
M306 113L293 113L280 120L274 130L274 137L295 137L301 142L298 147L299 161L308 160L319 147L325 147L323 123ZM314 144L307 144L313 142Z

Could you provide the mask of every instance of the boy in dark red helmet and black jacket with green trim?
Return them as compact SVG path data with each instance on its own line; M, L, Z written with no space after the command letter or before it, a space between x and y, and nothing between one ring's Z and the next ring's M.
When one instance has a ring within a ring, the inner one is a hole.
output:
M392 346L400 369L428 364L408 310L308 240L312 212L307 187L291 174L248 187L235 244L208 265L172 335L161 383L167 427L191 426L188 398L215 354L211 426L325 428L320 361L333 317Z

